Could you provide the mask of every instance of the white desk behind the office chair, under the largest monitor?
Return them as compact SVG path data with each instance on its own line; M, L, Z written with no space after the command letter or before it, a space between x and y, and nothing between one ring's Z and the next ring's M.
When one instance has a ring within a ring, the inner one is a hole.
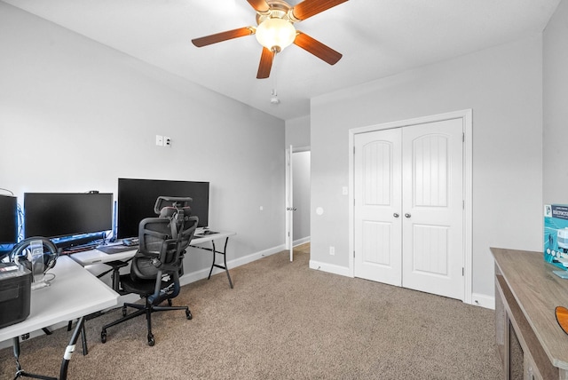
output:
M224 269L225 273L227 273L227 278L229 279L229 284L231 285L231 289L233 289L233 281L231 281L231 275L229 274L229 269L227 268L226 263L226 249L227 243L229 241L229 237L234 236L236 233L227 232L227 231L220 231L217 234L206 234L200 235L196 234L191 243L190 247L197 248L197 249L205 249L209 250L209 252L213 253L213 264L211 265L211 269L209 270L209 277L211 277L211 273L213 272L213 268L217 267L220 269ZM225 239L225 244L223 250L217 249L215 245L215 241ZM204 247L202 244L208 243L210 241L211 248ZM121 244L121 243L117 243ZM107 254L99 249L91 249L85 250L83 252L77 252L69 257L72 257L77 263L80 265L94 265L94 264L104 264L109 263L111 261L122 261L128 260L130 257L133 257L136 254L138 247L132 247L130 250L125 250L122 252L116 252L113 254ZM223 264L217 264L217 255L223 255Z

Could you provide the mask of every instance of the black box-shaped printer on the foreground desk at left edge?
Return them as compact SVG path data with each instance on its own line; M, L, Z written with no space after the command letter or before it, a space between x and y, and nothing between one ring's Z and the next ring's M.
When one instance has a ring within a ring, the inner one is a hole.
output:
M32 273L22 265L0 263L0 329L29 315Z

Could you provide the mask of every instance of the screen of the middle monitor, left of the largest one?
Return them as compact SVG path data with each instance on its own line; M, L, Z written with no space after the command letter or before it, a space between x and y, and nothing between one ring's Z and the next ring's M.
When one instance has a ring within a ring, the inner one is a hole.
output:
M113 194L26 193L24 234L48 238L113 229Z

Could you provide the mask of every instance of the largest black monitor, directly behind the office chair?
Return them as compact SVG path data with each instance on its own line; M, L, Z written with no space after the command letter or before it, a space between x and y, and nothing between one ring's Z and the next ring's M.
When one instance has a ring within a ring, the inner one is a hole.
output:
M197 226L209 226L209 182L118 178L118 239L138 236L140 220L156 217L154 204L160 195L191 197Z

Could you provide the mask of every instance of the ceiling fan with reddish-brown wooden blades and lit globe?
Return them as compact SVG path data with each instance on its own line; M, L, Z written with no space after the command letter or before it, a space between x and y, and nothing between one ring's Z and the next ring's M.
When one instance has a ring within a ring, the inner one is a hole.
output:
M305 51L311 52L329 65L335 65L342 58L341 53L296 30L293 24L327 11L329 8L348 0L304 0L294 6L284 0L247 1L256 11L256 28L249 26L227 30L210 36L194 38L192 43L197 47L202 47L233 38L256 35L258 42L263 45L260 64L256 73L258 79L270 76L274 57L290 44L295 44Z

